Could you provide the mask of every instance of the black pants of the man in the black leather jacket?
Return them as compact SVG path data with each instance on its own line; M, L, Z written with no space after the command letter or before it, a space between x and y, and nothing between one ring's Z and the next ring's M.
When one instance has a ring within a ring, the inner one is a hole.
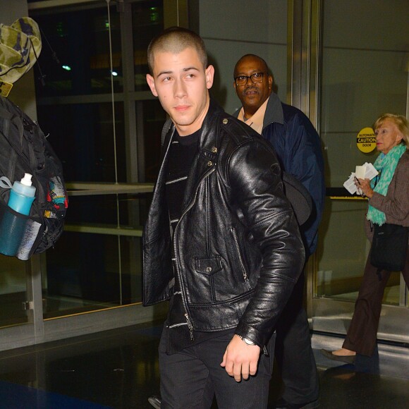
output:
M275 334L267 344L269 356L260 354L257 374L236 382L220 366L233 332L166 355L159 343L162 409L209 409L214 395L219 409L265 409L273 372Z

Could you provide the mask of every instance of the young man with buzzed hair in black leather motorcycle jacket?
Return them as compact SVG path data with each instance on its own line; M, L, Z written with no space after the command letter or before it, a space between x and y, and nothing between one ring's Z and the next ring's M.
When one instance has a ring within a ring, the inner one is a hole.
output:
M209 97L198 35L165 30L148 63L173 123L143 235L143 304L169 300L161 408L267 408L273 329L305 259L279 163Z

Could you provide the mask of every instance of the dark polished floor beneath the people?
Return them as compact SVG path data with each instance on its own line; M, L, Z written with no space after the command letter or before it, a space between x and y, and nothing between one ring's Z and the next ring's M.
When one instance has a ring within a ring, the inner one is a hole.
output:
M130 326L1 352L0 408L152 409L147 398L159 393L160 328ZM380 345L374 358L339 366L322 357L319 348L338 348L341 341L312 336L321 408L409 408L408 348ZM271 408L280 388L275 370Z

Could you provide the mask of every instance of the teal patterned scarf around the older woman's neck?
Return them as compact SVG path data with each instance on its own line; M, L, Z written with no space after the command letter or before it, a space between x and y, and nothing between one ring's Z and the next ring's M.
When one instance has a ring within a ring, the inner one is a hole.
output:
M400 143L396 147L393 147L387 154L379 154L377 160L374 163L375 169L379 171L380 178L377 176L371 181L371 188L374 192L386 196L388 192L389 183L393 178L393 173L395 173L396 166L398 165L399 159L406 151L406 145ZM384 212L375 209L371 205L368 207L367 219L372 221L372 223L379 224L381 226L386 221L386 216Z

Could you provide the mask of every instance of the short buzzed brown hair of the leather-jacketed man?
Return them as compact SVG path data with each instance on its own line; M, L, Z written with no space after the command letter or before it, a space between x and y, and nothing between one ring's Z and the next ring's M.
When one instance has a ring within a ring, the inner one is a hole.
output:
M170 27L154 37L147 47L149 73L153 75L155 53L170 52L172 54L179 54L188 47L192 47L197 51L200 62L203 68L206 69L207 51L202 38L187 28Z

